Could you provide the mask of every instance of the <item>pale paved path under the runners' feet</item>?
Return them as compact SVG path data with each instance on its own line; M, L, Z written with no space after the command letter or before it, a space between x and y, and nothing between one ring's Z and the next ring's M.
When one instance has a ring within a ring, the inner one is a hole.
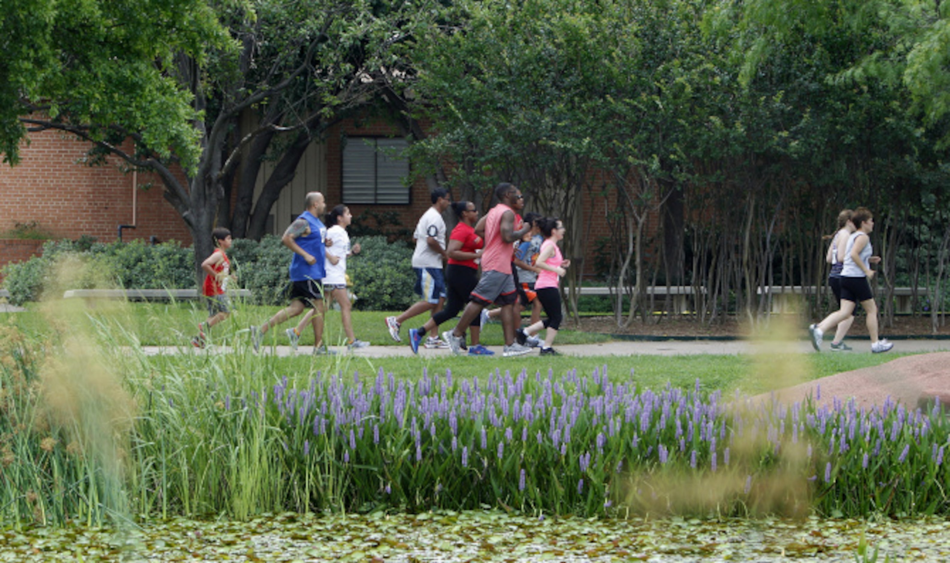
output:
M851 352L831 352L825 348L822 353L870 353L869 345L864 341L850 341L854 346ZM681 354L748 354L755 353L766 345L750 342L747 340L669 340L659 342L644 341L613 341L600 344L567 345L556 346L561 354L567 356L637 356L637 355L659 355L675 356ZM142 347L148 355L156 354L178 354L199 352L193 347ZM347 353L346 347L331 347L338 353ZM502 347L490 347L495 352L495 357L502 353ZM807 341L789 342L786 349L797 350L802 353L814 353L811 345ZM228 352L230 347L211 347L209 351ZM311 354L314 347L302 346L295 352L289 346L262 347L263 353L271 353L278 356L291 356L293 354ZM905 352L934 352L950 351L950 340L897 340L894 341L894 351ZM368 358L388 358L388 357L410 357L412 350L406 346L371 346L358 349L352 352L356 356L366 356ZM447 349L426 349L420 348L421 357L448 355L451 352ZM537 354L537 352L533 352Z

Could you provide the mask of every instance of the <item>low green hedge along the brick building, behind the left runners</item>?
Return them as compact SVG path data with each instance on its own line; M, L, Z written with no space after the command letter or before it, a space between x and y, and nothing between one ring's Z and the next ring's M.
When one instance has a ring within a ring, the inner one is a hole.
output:
M359 239L362 253L352 256L348 270L355 303L362 310L401 310L413 302L414 274L412 251L402 242L390 243L385 236ZM94 264L82 271L59 273L67 279L53 280L54 265L64 256L79 256ZM237 285L252 292L252 301L261 305L284 302L287 269L293 255L277 236L264 236L260 242L238 239L231 248ZM125 289L190 289L195 287L194 251L178 243L157 245L140 240L103 244L93 239L47 242L43 255L3 268L4 289L10 291L10 303L22 305L38 301L43 291L91 289L102 287L103 280ZM57 282L53 284L52 282Z

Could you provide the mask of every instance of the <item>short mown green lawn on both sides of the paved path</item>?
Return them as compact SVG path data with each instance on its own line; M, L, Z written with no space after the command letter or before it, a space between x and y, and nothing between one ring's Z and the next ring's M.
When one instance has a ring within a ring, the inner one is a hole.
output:
M61 307L80 307L79 302L61 302ZM48 307L48 306L47 306ZM736 390L743 393L761 393L780 388L791 383L810 381L826 377L842 371L857 369L865 366L876 366L901 357L902 354L793 354L788 357L769 357L762 362L759 358L750 355L693 355L693 356L602 356L602 357L539 357L525 356L516 359L493 357L468 356L439 356L439 357L412 357L387 358L385 360L371 359L358 355L342 355L338 357L311 357L301 354L293 358L276 358L272 356L257 356L246 353L249 339L247 327L260 324L273 315L278 308L239 306L232 317L219 326L212 333L214 341L223 344L235 345L237 352L232 357L223 360L227 369L250 371L255 378L264 381L280 378L284 375L292 379L306 380L317 371L329 372L358 372L361 375L371 376L378 369L392 372L396 376L415 378L421 376L423 369L429 372L445 373L451 369L456 376L486 376L489 372L499 370L520 371L527 369L529 373L553 370L563 373L570 369L577 369L581 373L591 373L595 368L607 368L607 372L614 381L626 381L640 387L662 388L665 385L692 387L698 380L707 390L722 390L724 393L733 393ZM204 320L205 311L199 309L197 303L104 303L99 309L89 311L100 331L108 334L117 343L123 345L150 345L150 346L186 346L188 339L194 333L199 321ZM386 328L384 319L392 312L354 311L353 324L358 338L368 340L373 346L408 346L406 339L409 328L421 325L425 317L420 316L410 320L403 327L404 342L398 344L392 341ZM58 316L58 315L54 315ZM38 304L30 304L27 312L0 313L0 323L10 322L27 334L43 338L51 332L49 316L42 312ZM291 327L285 323L268 334L268 343L287 345L284 329ZM453 323L447 323L443 328L450 328ZM343 332L340 327L338 311L329 313L326 325L326 334L331 343L342 343ZM563 329L558 334L558 344L587 344L609 340L606 335L580 332ZM499 347L502 343L502 328L493 323L485 328L483 342L487 346ZM313 344L313 333L305 330L301 337L302 346ZM209 363L222 363L218 355L199 355L187 359L166 358L161 362L178 365L180 370L196 370L200 372ZM783 368L782 373L776 372L776 366ZM261 375L263 374L263 375Z

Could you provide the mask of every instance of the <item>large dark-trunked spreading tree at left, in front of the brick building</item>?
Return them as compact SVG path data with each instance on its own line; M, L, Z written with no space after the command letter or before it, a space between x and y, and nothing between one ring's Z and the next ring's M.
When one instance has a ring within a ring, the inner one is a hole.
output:
M94 143L94 157L116 155L135 169L156 173L165 199L194 238L199 278L200 257L212 251L210 233L216 224L232 224L237 235L259 236L306 146L321 139L348 111L370 103L381 87L401 80L398 50L413 28L427 25L430 3L247 0L220 3L214 10L198 3L191 6L197 15L186 17L187 10L186 15L180 10L190 5L183 2L154 2L151 12L145 10L162 26L143 36L164 48L142 47L139 58L126 61L112 56L111 51L124 47L117 42L105 49L102 59L66 76L66 82L50 78L61 89L24 92L21 99L31 103L31 115L20 121L33 129L73 133ZM114 6L103 3L96 8L107 12ZM120 3L118 8L119 15L141 13L139 4ZM149 21L135 17L140 27ZM96 37L114 41L114 27L114 18L103 17ZM71 29L71 35L82 36L80 30ZM127 35L142 39L137 30L130 25ZM172 43L168 38L178 37L179 30L187 41ZM53 58L82 60L86 53L97 53L90 48L95 45L67 43ZM45 60L48 65L50 59ZM101 73L91 84L84 81L86 67ZM52 70L50 74L59 76ZM138 84L140 74L153 80ZM63 89L64 84L88 85L73 86L72 91ZM120 95L130 86L140 93L136 104L126 104ZM70 104L74 100L75 106ZM162 103L165 100L169 102ZM37 114L43 110L46 115ZM23 107L11 110L23 113ZM249 115L257 126L241 131L240 120ZM257 170L265 159L278 164L253 207ZM227 202L233 183L237 206L232 221Z

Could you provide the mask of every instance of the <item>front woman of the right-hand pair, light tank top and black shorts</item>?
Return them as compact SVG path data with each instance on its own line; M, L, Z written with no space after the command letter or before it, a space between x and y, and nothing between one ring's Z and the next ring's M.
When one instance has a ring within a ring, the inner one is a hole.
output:
M851 216L851 222L857 228L845 246L845 261L841 270L841 309L829 314L824 321L808 327L811 346L822 349L822 337L825 331L838 325L854 312L857 303L861 303L867 316L867 333L871 337L871 351L886 352L894 347L886 339L879 339L878 306L874 302L869 280L874 277L871 264L881 261L873 256L870 234L874 230L874 216L864 207L859 207Z

